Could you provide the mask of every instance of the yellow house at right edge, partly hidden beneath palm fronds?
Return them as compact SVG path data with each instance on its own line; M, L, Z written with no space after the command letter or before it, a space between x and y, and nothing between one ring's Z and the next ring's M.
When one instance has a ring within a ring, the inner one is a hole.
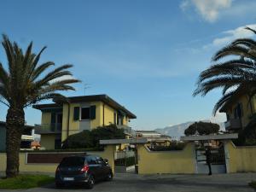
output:
M226 131L238 131L246 127L253 113L256 113L256 98L249 101L249 96L237 92L219 112L226 113Z

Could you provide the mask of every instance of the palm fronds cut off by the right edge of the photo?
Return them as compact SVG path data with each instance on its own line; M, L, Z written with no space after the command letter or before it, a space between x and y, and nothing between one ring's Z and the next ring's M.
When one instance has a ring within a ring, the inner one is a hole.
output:
M253 29L246 29L256 34ZM230 56L233 59L230 60ZM193 96L206 96L209 91L221 88L223 96L213 108L213 114L238 92L247 94L251 101L256 94L256 41L251 38L236 39L213 55L212 61L218 63L201 72Z

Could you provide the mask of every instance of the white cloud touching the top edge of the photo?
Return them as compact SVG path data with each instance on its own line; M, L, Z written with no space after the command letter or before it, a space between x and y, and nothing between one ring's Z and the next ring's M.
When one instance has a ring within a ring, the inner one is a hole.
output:
M196 12L208 22L218 20L220 11L229 9L232 5L232 0L184 0L180 4L180 8L184 11L190 5L195 7Z

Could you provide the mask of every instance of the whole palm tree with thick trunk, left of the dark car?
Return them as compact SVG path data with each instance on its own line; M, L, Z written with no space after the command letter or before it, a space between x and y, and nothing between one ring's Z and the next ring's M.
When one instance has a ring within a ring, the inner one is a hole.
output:
M3 35L3 49L7 56L8 69L0 63L0 102L8 106L6 116L6 176L15 177L19 173L19 152L21 133L24 128L24 108L45 99L61 96L56 91L74 90L70 84L77 83L77 79L60 79L64 75L72 75L67 64L56 67L49 73L52 61L38 65L43 49L38 55L32 53L32 43L23 53L19 45L10 42ZM45 73L45 74L43 74Z

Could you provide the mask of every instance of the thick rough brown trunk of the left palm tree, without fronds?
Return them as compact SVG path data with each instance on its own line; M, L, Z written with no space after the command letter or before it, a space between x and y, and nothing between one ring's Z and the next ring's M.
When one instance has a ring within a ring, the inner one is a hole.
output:
M6 116L6 177L16 177L19 174L20 141L24 123L23 108L10 107Z

